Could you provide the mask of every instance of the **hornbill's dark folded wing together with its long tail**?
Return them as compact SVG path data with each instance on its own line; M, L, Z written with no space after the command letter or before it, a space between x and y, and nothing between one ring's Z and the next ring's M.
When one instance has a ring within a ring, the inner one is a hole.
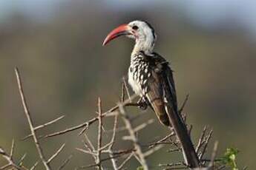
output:
M178 140L180 140L185 163L191 167L198 167L197 153L194 151L186 124L177 110L177 97L171 68L168 66L168 62L157 53L153 53L146 59L151 72L146 92L148 103L154 109L161 123L173 127Z

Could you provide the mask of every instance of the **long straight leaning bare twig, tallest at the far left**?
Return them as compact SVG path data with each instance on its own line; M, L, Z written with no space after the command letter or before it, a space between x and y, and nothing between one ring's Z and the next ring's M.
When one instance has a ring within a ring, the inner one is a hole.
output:
M45 159L45 154L42 151L39 140L37 139L37 136L36 136L36 131L33 128L33 120L30 117L30 111L28 109L27 101L26 101L26 98L24 96L24 91L23 91L23 87L22 87L22 80L20 78L19 69L17 67L15 69L15 72L16 72L17 83L18 83L18 86L19 86L19 94L22 98L22 105L23 105L23 109L24 109L24 114L27 117L27 122L29 123L30 131L31 131L31 134L33 135L33 140L34 140L34 143L36 144L37 152L39 153L39 157L42 160L42 163L44 164L45 169L50 170L51 169L50 164L47 163L47 160Z

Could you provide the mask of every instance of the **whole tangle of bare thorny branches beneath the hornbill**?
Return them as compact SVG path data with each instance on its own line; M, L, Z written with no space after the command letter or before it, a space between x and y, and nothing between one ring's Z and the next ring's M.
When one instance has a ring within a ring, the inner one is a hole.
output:
M39 143L39 138L36 134L37 130L44 128L45 126L49 126L52 125L53 123L56 123L59 120L62 120L62 118L64 118L65 116L61 116L59 118L56 118L54 120L51 120L47 123L44 123L42 125L39 126L34 126L33 125L33 120L31 118L30 115L30 110L27 106L27 101L26 98L24 96L24 91L23 91L23 86L22 86L22 80L19 74L19 69L15 69L16 72L16 79L18 82L18 86L19 86L19 94L22 98L22 106L24 109L24 114L27 118L27 122L30 126L30 135L27 135L26 137L23 138L23 140L29 138L29 137L33 137L33 141L36 145L36 149L37 152L39 153L39 157L40 157L40 161L36 161L36 163L30 168L30 170L33 170L36 168L36 166L38 165L39 162L42 162L45 166L45 169L50 170L50 163L53 161L53 159L55 157L57 157L59 155L60 152L62 152L62 150L65 147L65 143L55 152L55 154L53 154L49 159L46 159L45 154L42 150L42 146L40 146ZM128 99L125 100L125 91L128 95ZM124 169L125 164L128 163L129 160L131 160L132 157L135 157L138 162L141 164L142 168L144 170L148 170L150 165L148 165L147 162L147 157L150 156L151 154L153 154L154 152L157 152L158 150L162 149L164 146L171 146L171 149L168 149L168 152L179 152L181 150L180 148L180 142L177 140L173 130L171 129L170 132L168 133L168 135L165 135L165 137L161 137L160 139L158 139L157 141L153 142L153 143L149 143L149 144L141 144L140 140L137 138L137 133L139 133L142 129L145 129L147 126L151 125L151 123L154 123L153 119L150 120L146 120L145 122L141 123L139 126L134 126L133 125L133 121L137 120L138 116L135 116L134 118L130 118L128 116L128 114L125 112L125 108L126 106L138 106L137 103L133 103L134 98L136 98L136 95L130 95L128 92L128 86L126 85L125 82L125 78L123 78L123 83L122 83L122 94L121 94L121 102L117 103L116 106L112 107L111 109L108 109L108 111L106 112L102 112L102 103L100 98L98 99L98 112L97 112L97 116L95 118L91 118L91 120L87 120L84 123L81 123L77 126L73 126L70 127L68 129L59 131L59 132L54 132L50 135L44 135L43 137L55 137L58 135L63 135L66 134L68 132L72 132L75 131L77 129L81 129L81 131L79 132L79 135L84 135L85 136L85 140L82 141L83 145L85 146L85 149L79 149L76 148L76 150L78 150L79 152L83 152L85 154L90 154L91 157L93 157L94 160L94 164L91 165L86 165L86 166L80 166L78 167L78 169L86 169L86 168L90 168L90 167L95 167L97 169L104 169L105 166L105 162L106 161L111 161L111 165L113 166L114 170L120 170L120 169ZM188 101L188 95L186 96L185 101L183 102L181 108L180 108L180 114L183 115L183 120L184 123L186 123L186 114L183 113L183 109L186 105L186 102ZM114 118L114 126L113 129L111 129L111 131L102 131L103 129L103 123L102 120L103 118L109 118L112 117ZM122 118L122 123L124 125L122 126L118 126L118 117ZM98 136L97 136L97 143L96 146L93 146L93 143L91 142L91 140L89 139L88 135L85 134L85 131L89 128L89 126L91 126L93 123L98 122ZM192 126L188 126L189 127L188 132L190 132L191 134L191 129ZM114 147L114 143L117 143L119 141L116 141L116 135L118 132L122 132L122 131L127 131L128 132L128 136L122 136L123 140L129 140L131 141L133 147L129 148L129 149L115 149ZM219 165L217 166L215 164L215 161L219 160L219 159L215 159L216 154L217 154L217 142L214 143L214 149L211 153L211 158L210 159L206 159L203 158L203 155L206 154L207 148L208 148L208 144L209 144L209 140L211 139L211 135L212 135L212 130L210 130L208 132L208 128L205 126L203 128L203 132L200 135L200 138L198 140L197 143L197 147L196 147L196 152L198 157L200 158L200 166L202 166L202 168L200 168L200 170L210 170L210 169L223 169L225 166L223 165ZM105 140L103 140L104 138L104 133L105 132L112 132L112 136L111 136L111 140L106 143L103 144ZM18 169L18 170L23 170L26 169L26 167L24 167L22 165L22 162L24 160L24 158L26 157L26 154L24 154L22 156L22 158L19 160L19 163L15 163L13 161L13 149L14 149L14 140L13 143L11 145L11 149L10 149L10 154L7 154L6 152L4 152L3 149L1 149L0 147L0 154L2 157L4 157L5 160L7 160L7 165L0 167L0 169L7 169L8 167L13 167L14 169ZM142 150L143 147L146 147L147 149L145 149L144 151ZM102 154L106 154L108 155L107 157L104 157ZM66 160L64 160L64 162L62 163L61 166L59 166L59 170L63 169L67 163L70 161L71 157L73 157L73 154L71 154ZM122 159L121 159L122 158ZM207 164L208 163L208 164ZM164 163L164 164L160 164L159 166L161 167L165 167L165 169L189 169L189 167L183 163Z

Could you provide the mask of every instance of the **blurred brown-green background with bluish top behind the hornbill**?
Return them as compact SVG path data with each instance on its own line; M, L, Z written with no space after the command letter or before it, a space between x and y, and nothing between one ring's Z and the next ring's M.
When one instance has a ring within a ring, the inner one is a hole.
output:
M190 95L185 111L194 125L194 141L203 126L209 125L214 129L213 140L220 142L219 155L226 147L237 147L239 166L256 169L255 7L255 1L230 0L1 0L0 146L9 150L14 138L16 160L24 152L26 165L38 159L32 140L20 141L29 129L14 67L22 72L36 125L66 115L40 134L82 123L95 116L98 96L103 109L119 100L122 76L130 64L131 40L119 38L102 47L103 39L119 24L142 19L156 30L155 51L171 62L180 103ZM136 112L131 109L129 114ZM137 124L155 118L153 112L146 112ZM88 133L95 137L96 126ZM147 143L165 133L165 127L156 122L139 138ZM67 147L53 167L73 154L66 168L73 169L91 163L91 157L74 149L82 146L81 140L77 132L71 132L42 140L42 146L49 156L65 142ZM151 169L175 159L177 154L163 149L149 158ZM4 163L0 158L0 166ZM129 169L136 166L132 160Z

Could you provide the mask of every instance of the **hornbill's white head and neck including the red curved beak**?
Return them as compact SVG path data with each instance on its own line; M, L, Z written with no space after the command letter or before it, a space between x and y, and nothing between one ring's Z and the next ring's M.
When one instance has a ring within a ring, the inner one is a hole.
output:
M122 24L116 27L105 38L103 46L121 35L126 35L128 38L132 38L136 41L134 50L151 52L154 48L156 34L154 33L153 27L151 27L148 22L131 21L129 24Z

